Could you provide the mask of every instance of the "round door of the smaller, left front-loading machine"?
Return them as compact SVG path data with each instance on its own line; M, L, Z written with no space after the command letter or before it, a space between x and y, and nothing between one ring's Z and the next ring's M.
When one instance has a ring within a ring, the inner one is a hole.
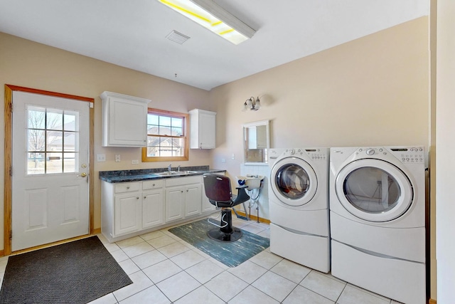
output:
M270 184L277 198L289 206L308 203L318 189L314 169L298 157L277 161L270 173Z

